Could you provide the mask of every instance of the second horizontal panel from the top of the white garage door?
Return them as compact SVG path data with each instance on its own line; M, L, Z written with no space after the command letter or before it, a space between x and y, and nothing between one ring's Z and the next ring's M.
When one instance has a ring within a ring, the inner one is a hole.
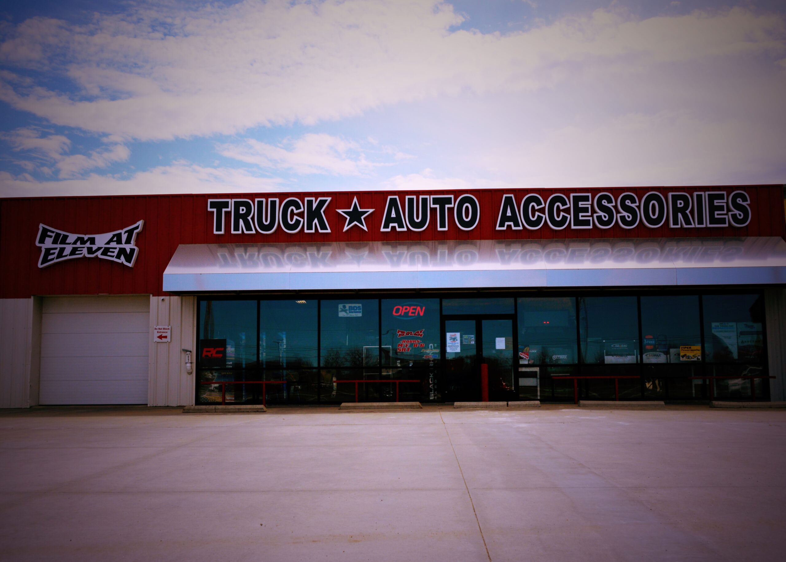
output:
M105 334L109 332L147 334L149 312L61 312L44 314L42 334Z

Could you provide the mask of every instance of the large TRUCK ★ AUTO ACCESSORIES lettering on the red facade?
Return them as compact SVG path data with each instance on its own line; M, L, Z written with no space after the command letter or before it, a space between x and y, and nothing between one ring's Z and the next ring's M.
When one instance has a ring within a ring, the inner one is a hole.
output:
M375 209L366 207L355 197L349 209L331 209L332 198L255 198L209 199L213 233L272 234L281 228L288 234L300 231L329 233L328 217L332 212L343 220L343 231L358 227L369 231L366 218ZM334 205L335 206L335 205ZM389 195L382 212L380 232L424 231L432 224L438 231L455 226L472 231L480 223L483 209L472 194L461 195ZM504 194L494 213L495 229L553 230L611 228L615 225L630 229L643 224L657 228L744 227L751 221L751 198L742 190L697 191L694 193L650 191L641 198L626 192L615 195L606 191L592 193L541 194L529 193L519 198ZM336 215L332 215L336 216Z

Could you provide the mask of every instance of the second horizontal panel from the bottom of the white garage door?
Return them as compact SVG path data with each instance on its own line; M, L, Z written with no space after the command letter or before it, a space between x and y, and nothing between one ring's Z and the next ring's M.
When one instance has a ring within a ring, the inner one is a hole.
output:
M42 357L41 380L147 380L147 357Z

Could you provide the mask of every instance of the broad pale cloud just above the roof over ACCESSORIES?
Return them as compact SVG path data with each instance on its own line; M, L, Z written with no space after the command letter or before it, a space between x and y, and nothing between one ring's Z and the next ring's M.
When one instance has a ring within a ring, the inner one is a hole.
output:
M556 128L537 142L495 147L478 164L519 187L782 183L780 127L777 120L766 127L679 111L629 113L597 126Z

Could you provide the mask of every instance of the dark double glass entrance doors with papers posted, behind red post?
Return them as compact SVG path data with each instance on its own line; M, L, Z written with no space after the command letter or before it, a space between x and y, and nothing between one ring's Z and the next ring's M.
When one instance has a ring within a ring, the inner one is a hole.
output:
M512 318L445 320L446 402L481 399L480 365L488 365L489 400L516 400Z

